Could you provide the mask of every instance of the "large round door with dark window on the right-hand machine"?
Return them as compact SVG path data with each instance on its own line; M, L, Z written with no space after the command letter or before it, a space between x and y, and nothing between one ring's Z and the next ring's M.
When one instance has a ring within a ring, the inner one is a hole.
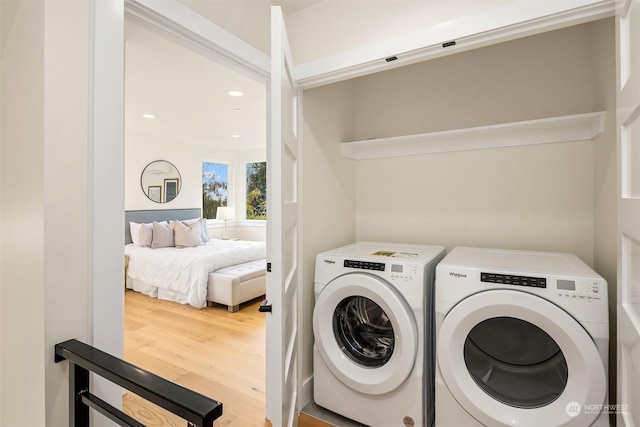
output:
M598 348L566 311L530 293L488 290L456 304L437 338L438 368L484 425L590 425L603 404Z

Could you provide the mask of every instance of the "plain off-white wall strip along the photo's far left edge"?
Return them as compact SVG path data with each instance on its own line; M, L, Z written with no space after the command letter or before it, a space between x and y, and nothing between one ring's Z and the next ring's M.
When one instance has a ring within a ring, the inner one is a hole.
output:
M44 4L1 5L0 424L45 425Z

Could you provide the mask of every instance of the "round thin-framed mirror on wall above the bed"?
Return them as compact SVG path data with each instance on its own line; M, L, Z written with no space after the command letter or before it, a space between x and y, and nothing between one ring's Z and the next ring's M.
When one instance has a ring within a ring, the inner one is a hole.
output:
M176 198L182 182L178 169L166 160L156 160L147 165L140 177L142 191L156 203L167 203Z

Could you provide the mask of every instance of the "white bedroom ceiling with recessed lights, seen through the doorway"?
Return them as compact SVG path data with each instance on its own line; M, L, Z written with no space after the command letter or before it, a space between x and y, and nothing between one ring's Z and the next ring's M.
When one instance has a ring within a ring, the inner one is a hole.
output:
M232 97L230 90L244 92ZM266 88L156 33L125 21L126 138L230 150L266 146ZM155 119L143 118L153 114ZM239 135L234 138L232 135Z

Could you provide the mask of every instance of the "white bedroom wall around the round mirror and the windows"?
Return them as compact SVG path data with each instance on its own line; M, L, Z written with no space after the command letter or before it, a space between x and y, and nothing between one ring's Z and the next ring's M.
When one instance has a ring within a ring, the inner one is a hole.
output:
M245 217L245 163L266 161L266 148L225 150L206 145L158 140L131 132L125 137L125 210L202 208L202 162L229 165L229 206L236 208L237 221L229 222L227 235L244 240L266 240L265 223L243 221ZM167 160L180 171L182 185L169 203L155 203L142 192L140 175L154 160ZM209 234L222 237L221 224L210 223Z

